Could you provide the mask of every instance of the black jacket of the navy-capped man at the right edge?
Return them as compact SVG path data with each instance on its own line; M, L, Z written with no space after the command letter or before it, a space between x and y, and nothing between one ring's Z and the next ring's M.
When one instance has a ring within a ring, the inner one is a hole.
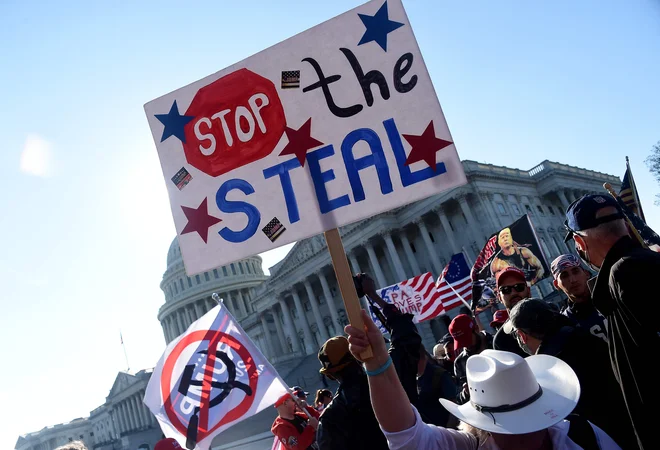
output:
M658 293L660 253L622 237L605 256L600 272L589 281L593 304L607 319L607 338L616 376L639 447L658 447L660 422L660 355Z

